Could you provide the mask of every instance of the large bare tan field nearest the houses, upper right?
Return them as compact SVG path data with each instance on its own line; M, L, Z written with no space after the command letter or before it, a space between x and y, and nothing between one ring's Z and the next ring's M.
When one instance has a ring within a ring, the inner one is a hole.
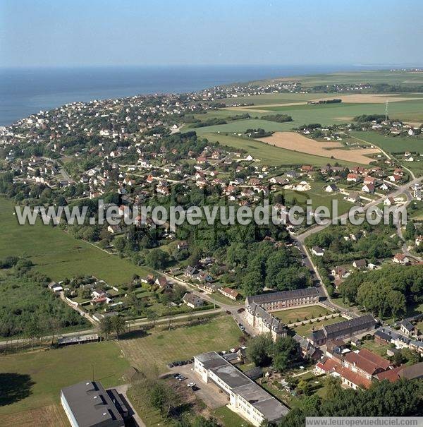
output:
M380 154L377 148L365 148L362 150L345 150L339 142L321 142L306 138L296 132L275 132L272 136L259 138L260 141L276 145L276 147L304 152L306 154L318 155L321 157L330 157L336 160L345 160L359 164L369 164L372 162L368 155Z

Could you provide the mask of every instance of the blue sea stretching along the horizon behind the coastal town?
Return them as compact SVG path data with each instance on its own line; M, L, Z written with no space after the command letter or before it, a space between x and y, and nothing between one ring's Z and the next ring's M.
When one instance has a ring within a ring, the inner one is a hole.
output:
M194 92L227 83L360 69L336 65L0 68L0 126L68 102Z

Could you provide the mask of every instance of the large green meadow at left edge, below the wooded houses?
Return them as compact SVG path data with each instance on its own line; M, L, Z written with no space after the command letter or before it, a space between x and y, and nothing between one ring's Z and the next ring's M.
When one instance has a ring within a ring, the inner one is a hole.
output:
M29 257L35 268L54 280L77 275L94 275L110 284L128 282L142 267L109 255L90 243L76 240L59 227L43 224L19 225L11 200L0 198L0 258Z

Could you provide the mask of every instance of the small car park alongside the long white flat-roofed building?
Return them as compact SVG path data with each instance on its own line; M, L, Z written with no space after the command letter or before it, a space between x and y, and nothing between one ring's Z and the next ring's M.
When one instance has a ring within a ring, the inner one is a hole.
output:
M194 372L193 363L170 368L169 373L180 373L185 376L187 379L181 381L181 383L185 385L188 385L188 383L195 383L198 387L198 390L195 391L195 395L207 404L207 407L210 409L217 409L228 404L228 395L212 383L203 383L200 376Z

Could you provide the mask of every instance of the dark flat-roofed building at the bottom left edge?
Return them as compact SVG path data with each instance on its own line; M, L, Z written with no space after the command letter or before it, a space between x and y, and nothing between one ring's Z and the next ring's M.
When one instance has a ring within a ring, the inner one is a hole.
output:
M83 381L63 388L78 427L124 427L123 419L101 383Z

